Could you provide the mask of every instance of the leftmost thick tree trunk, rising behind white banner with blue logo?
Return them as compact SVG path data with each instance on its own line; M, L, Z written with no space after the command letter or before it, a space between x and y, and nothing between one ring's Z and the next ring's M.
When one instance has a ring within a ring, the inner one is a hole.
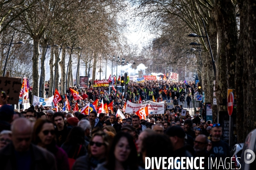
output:
M32 68L32 79L33 79L33 91L32 95L38 96L39 94L39 56L40 56L40 50L39 50L39 41L40 39L33 39L33 57L32 57L32 62L33 62L33 68ZM33 100L33 98L32 98Z

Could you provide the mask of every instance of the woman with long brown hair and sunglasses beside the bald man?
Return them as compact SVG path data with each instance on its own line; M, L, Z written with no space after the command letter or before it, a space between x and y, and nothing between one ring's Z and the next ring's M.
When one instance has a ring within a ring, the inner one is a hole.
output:
M33 130L33 143L47 149L56 159L58 170L70 170L67 153L55 142L55 129L47 119L38 119Z

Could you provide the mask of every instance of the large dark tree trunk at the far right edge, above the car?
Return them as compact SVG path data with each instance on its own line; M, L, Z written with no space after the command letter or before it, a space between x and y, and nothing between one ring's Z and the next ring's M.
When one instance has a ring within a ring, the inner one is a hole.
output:
M256 0L244 0L243 48L244 48L244 134L256 127Z

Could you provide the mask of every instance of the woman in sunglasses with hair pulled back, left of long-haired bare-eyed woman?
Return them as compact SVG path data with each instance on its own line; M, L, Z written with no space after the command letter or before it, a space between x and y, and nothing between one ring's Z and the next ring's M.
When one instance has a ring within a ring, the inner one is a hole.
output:
M94 133L88 145L88 153L76 160L72 170L94 170L98 164L105 161L109 144L110 137L106 133Z

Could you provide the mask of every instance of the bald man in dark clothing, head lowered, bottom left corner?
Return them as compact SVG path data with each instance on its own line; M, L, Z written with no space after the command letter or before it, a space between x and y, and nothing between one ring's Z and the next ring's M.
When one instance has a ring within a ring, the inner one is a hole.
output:
M0 150L2 170L56 170L52 153L31 143L32 123L28 119L15 119L11 130L12 142Z

